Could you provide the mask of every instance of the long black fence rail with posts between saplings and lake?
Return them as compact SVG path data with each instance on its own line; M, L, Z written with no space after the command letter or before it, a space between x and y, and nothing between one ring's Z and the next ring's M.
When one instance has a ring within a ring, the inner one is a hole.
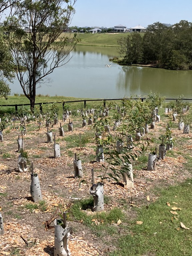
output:
M73 101L58 101L58 102L42 102L42 103L35 103L35 105L39 105L39 109L41 111L41 113L43 112L43 104L53 104L53 103L62 103L63 104L63 109L64 109L64 105L66 103L73 103L73 102L84 102L84 108L86 108L86 102L88 101L103 101L103 106L106 106L106 101L110 100L123 100L125 98L120 98L120 99L90 99L90 100L73 100ZM141 100L142 102L144 100L146 100L147 98L127 98L130 100ZM177 100L177 98L165 98L165 100ZM192 101L192 99L183 99L183 100L188 100L188 101ZM0 105L1 107L15 107L15 111L18 111L18 106L30 106L30 104L14 104L14 105Z

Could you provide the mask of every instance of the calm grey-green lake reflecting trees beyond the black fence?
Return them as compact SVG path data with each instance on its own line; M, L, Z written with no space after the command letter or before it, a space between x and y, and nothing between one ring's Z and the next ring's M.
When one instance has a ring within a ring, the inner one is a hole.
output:
M37 94L110 99L146 96L152 91L166 98L192 98L192 70L120 66L109 61L114 56L119 56L116 47L78 45L70 61L55 69L49 75L51 82L38 88ZM10 88L12 94L23 93L17 80Z

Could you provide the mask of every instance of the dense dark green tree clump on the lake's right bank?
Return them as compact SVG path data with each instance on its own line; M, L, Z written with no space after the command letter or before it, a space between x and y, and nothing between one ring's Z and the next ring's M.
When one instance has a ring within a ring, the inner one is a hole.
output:
M156 22L144 35L138 32L118 40L123 63L154 63L157 67L192 69L192 23L181 20L168 27Z

